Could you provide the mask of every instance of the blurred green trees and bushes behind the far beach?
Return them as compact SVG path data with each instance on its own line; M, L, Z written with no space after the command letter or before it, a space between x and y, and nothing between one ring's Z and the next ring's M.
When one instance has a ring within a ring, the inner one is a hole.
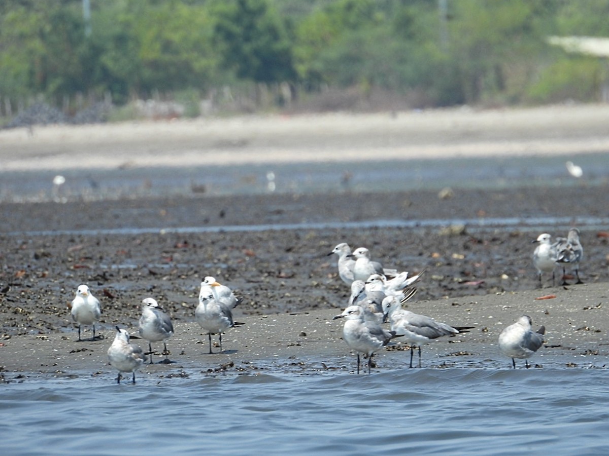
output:
M90 4L86 33L82 0L0 2L0 106L161 94L197 116L201 99L248 105L233 97L247 85L255 103L384 91L410 107L589 102L607 85L606 60L567 54L547 36L609 36L609 0Z

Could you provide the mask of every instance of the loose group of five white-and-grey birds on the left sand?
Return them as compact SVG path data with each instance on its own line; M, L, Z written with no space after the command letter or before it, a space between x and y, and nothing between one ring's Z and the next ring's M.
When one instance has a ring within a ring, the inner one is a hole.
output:
M195 309L195 320L209 337L209 353L211 349L211 336L219 334L220 351L222 351L222 333L233 326L244 323L234 322L231 309L237 306L242 299L238 299L233 291L225 285L220 284L214 277L208 276L201 282L199 292L199 304ZM78 323L78 340L81 337L82 325L93 326L93 337L96 340L95 323L100 319L101 306L99 300L94 297L87 285L79 285L76 297L69 303L71 316ZM148 342L148 351L144 351L130 342L132 336L127 330L116 326L114 340L108 348L108 361L118 370L117 383L121 382L123 372L133 374L132 381L135 383L135 371L138 370L148 359L152 364L153 342L163 342L163 353L165 358L161 363L169 363L169 350L167 340L174 334L174 325L157 300L148 297L142 300L142 313L138 322L138 337ZM148 358L150 356L150 358Z

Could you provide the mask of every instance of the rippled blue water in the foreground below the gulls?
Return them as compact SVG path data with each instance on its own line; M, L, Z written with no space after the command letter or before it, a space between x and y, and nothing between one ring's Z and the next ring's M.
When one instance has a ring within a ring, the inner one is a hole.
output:
M608 390L579 368L27 380L0 385L0 437L5 455L608 454Z

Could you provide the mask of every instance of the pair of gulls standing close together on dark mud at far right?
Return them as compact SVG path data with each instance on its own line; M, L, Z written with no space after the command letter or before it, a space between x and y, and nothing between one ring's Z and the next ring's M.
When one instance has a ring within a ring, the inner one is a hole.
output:
M566 238L557 237L552 242L549 233L540 234L533 243L538 244L533 252L533 264L537 268L539 288L542 288L541 275L544 272L552 273L552 286L555 285L555 270L560 266L563 270L561 285L568 285L565 280L566 266L569 265L577 277L576 283L582 283L579 277L579 264L583 260L583 247L579 240L579 229L571 228Z

